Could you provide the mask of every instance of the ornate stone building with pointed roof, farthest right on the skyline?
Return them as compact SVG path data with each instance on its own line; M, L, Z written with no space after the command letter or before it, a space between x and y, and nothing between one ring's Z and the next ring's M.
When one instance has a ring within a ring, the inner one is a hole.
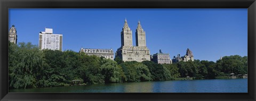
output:
M172 59L172 62L173 63L177 63L177 62L180 62L180 61L194 61L194 55L193 53L190 51L190 49L187 49L187 52L186 52L186 55L185 56L182 56L180 57L180 54L177 55L177 57L173 56L173 59Z

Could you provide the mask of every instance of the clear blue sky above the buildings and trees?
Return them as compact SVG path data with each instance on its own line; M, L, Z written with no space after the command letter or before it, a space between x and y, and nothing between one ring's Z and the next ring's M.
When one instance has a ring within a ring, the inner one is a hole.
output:
M63 51L83 47L116 52L125 18L134 46L140 20L151 55L162 49L171 58L183 56L189 48L197 60L247 56L247 9L9 9L9 28L17 28L18 43L38 45L46 27L63 35Z

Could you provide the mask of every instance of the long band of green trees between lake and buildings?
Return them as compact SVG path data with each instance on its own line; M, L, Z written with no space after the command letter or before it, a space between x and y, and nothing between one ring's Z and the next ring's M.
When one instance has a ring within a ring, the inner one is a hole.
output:
M123 62L89 56L74 51L40 51L31 43L9 43L9 88L26 89L83 83L164 81L178 77L214 79L229 73L246 74L247 57L225 56L217 63L209 61L156 64L151 61Z

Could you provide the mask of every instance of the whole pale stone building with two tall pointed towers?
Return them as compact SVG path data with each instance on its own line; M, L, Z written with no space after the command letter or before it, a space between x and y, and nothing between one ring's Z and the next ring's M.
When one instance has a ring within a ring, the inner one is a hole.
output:
M132 30L125 19L121 31L121 47L117 49L116 56L125 61L150 61L150 51L146 46L146 33L138 22L136 29L136 46L132 46Z

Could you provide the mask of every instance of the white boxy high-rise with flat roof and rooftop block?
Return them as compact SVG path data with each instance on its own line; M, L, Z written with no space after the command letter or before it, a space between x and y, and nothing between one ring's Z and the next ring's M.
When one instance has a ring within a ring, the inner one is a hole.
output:
M62 35L53 34L53 29L45 28L45 31L39 32L39 49L62 51Z

